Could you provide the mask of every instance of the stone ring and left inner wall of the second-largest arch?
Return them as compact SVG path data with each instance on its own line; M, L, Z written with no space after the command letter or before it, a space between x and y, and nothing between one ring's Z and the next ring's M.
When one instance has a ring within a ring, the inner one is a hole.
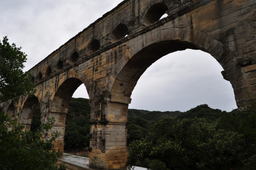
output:
M64 134L65 134L65 118L68 112L69 101L75 92L75 90L81 85L84 84L86 86L86 90L89 94L90 104L93 104L93 92L90 86L90 83L86 76L79 72L71 70L68 73L65 73L62 78L57 83L56 89L50 97L49 109L47 117L54 117L55 123L53 124L53 128L45 132L45 138L51 137L52 132L60 132L61 135L58 139L56 139L54 143L54 147L56 149L60 148L60 151L64 151ZM91 111L92 112L92 111ZM45 122L46 122L45 117Z

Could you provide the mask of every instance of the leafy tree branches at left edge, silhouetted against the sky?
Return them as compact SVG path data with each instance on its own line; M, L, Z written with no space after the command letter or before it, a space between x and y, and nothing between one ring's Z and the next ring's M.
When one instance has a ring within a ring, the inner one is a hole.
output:
M20 96L35 92L31 76L22 71L27 55L20 50L15 44L10 45L7 37L0 41L0 103L9 99L15 102Z

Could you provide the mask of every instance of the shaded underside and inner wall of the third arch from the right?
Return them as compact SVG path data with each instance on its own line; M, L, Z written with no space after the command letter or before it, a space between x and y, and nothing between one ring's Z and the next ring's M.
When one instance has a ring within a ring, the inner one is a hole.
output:
M22 107L22 111L19 116L19 123L25 125L24 130L30 130L34 110L37 107L38 103L39 103L38 98L35 97L35 95L26 99L26 102L24 103Z

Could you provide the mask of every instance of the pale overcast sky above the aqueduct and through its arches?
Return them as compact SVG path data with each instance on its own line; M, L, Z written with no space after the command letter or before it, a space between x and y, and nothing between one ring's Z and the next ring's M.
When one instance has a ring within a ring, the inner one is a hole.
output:
M29 70L122 0L0 0L0 36L22 46ZM236 109L231 84L221 65L200 50L162 57L139 79L129 108L187 111L197 105ZM83 84L82 84L83 85ZM89 98L84 86L73 97Z

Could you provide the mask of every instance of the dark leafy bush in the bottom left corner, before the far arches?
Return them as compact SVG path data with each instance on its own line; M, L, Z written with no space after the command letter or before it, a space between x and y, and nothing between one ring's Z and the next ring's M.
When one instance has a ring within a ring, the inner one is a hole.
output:
M10 121L7 113L0 113L0 169L3 170L64 170L55 165L61 152L56 151L52 144L59 133L52 134L50 140L42 140L41 131L52 128L54 118L48 124L41 125L36 132L23 131L24 125ZM12 127L8 131L8 127Z

